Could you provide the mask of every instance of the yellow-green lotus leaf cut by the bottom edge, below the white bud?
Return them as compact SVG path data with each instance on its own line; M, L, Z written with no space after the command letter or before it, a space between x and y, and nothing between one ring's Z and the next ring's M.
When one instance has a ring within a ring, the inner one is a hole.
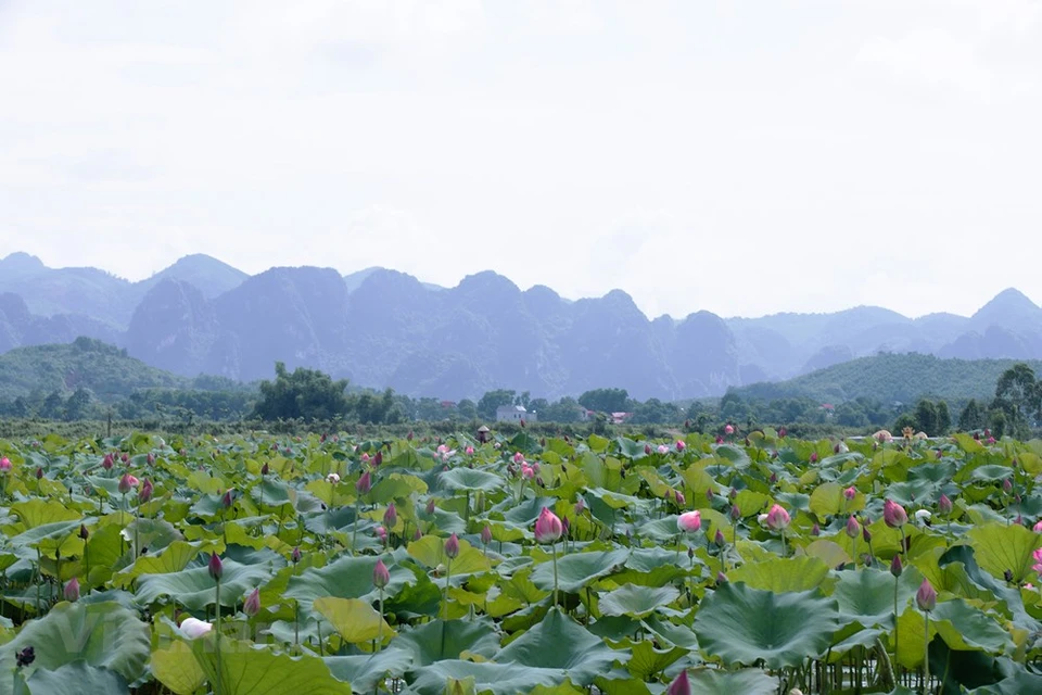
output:
M192 641L192 653L211 683L220 680L221 695L343 695L345 684L333 678L316 656L291 657L252 642L220 641L220 669L214 634Z

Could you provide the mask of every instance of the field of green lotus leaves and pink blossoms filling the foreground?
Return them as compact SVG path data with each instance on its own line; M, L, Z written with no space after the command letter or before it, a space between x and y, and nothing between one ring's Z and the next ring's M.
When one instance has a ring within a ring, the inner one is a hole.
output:
M1038 441L0 457L0 693L1042 693Z

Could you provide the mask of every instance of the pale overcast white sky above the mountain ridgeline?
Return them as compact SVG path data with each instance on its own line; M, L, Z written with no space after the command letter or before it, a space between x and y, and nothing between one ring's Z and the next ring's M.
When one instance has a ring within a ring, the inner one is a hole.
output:
M0 257L1042 301L1042 2L0 0Z

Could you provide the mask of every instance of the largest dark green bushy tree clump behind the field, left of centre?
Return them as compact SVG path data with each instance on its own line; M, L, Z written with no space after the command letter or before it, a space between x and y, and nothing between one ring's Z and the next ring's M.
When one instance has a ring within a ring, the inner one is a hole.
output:
M346 389L346 379L333 381L328 374L304 367L290 374L284 363L277 362L275 381L260 382L260 400L254 406L253 415L263 420L343 417L348 410L344 395Z

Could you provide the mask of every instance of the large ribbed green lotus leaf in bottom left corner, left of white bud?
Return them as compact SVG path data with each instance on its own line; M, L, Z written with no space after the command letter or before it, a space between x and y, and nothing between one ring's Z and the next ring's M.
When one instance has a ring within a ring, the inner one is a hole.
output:
M151 652L149 634L149 626L117 603L60 603L42 618L25 623L11 642L0 646L0 662L14 664L15 653L31 646L37 669L53 671L82 661L134 682L145 672Z

